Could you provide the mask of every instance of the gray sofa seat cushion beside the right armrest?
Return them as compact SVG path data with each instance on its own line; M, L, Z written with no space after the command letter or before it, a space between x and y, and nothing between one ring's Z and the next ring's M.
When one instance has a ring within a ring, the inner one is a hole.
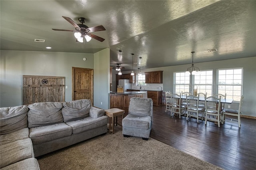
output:
M75 120L72 122L66 122L66 124L72 127L73 134L79 134L81 132L98 128L108 124L108 117L107 116L101 116L99 118L87 117L87 118Z

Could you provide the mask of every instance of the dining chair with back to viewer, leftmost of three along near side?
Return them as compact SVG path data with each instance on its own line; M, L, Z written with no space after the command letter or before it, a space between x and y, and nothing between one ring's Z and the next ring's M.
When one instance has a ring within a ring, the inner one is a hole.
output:
M174 112L174 114L179 114L179 118L181 115L185 115L186 114L186 106L181 104L181 94L171 94L171 104L172 104L172 112ZM172 116L172 114L171 114Z

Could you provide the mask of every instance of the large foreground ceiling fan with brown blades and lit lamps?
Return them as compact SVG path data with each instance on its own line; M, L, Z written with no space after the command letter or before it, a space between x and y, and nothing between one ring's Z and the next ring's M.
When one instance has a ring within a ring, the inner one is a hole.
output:
M103 42L105 39L101 38L99 36L96 36L92 34L91 32L96 32L96 31L104 31L106 30L104 26L99 25L99 26L94 26L89 28L88 26L84 25L83 23L86 21L85 18L79 17L78 21L81 22L81 24L76 24L71 18L62 16L65 20L67 20L70 24L72 24L75 27L75 30L62 30L62 29L52 29L54 31L69 31L69 32L75 32L74 36L76 37L77 41L83 42L83 39L85 38L86 41L90 41L92 38L95 40L98 40L100 42Z

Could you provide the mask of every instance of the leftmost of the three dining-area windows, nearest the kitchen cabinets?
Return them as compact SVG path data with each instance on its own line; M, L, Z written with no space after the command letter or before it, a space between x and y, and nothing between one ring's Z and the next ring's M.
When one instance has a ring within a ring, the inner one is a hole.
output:
M174 93L189 92L189 78L185 72L174 72Z

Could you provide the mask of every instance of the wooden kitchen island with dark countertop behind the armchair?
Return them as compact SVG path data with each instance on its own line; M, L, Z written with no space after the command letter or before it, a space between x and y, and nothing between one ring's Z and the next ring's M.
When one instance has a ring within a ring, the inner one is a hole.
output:
M128 109L130 98L142 97L146 92L110 92L110 108Z

